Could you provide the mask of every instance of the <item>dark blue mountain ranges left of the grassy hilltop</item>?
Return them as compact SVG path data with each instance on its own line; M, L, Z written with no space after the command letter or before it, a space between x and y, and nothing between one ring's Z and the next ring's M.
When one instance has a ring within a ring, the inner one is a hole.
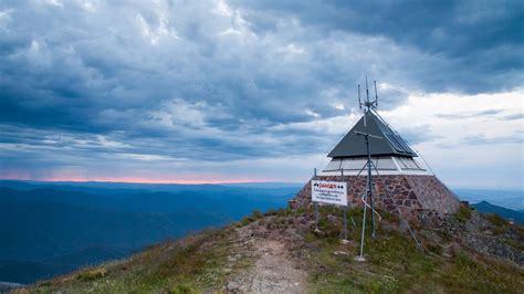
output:
M49 259L96 245L120 249L128 255L165 239L240 220L255 208L265 210L286 202L285 196L279 196L280 190L241 193L227 188L221 191L93 195L49 187L33 190L0 187L0 235L10 237L7 242L0 242L0 260L3 260L0 281L32 283L49 277L45 269L53 274L72 270L66 264L63 270L56 270L60 264L42 266ZM85 259L82 265L90 263L92 259ZM25 264L25 273L15 271L17 264ZM17 279L13 272L21 277Z

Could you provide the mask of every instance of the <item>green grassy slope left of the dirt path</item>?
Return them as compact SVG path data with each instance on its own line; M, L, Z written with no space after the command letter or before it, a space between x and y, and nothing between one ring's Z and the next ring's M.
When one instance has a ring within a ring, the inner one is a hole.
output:
M234 230L226 228L166 241L124 261L38 283L31 291L200 293L223 283L232 234Z

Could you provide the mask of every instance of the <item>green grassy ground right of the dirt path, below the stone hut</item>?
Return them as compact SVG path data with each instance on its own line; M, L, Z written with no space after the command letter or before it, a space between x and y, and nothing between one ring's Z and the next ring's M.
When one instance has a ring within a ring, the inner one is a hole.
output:
M471 210L468 209L468 212L462 210L459 213L470 219ZM329 213L340 214L339 211ZM321 216L325 220L326 211L321 210ZM395 222L379 225L377 238L366 239L367 261L356 261L355 256L359 255L361 210L353 210L348 216L354 216L355 221L355 225L348 229L348 244L337 242L335 235L340 228L333 229L326 221L319 222L324 233L308 233L305 238L313 248L307 254L313 264L311 269L314 269L311 277L312 285L316 285L315 292L520 293L524 288L524 271L512 262L464 249L444 256L444 244L419 237L423 242L421 250L407 232L390 225Z

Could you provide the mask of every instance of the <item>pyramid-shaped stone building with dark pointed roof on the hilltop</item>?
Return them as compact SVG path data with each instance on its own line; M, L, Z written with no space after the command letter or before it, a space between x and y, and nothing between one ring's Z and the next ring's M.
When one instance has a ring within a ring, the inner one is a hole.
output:
M367 133L366 133L367 132ZM363 206L366 193L369 134L375 208L406 219L437 221L459 210L458 197L421 161L407 141L370 108L328 154L331 161L312 180L347 182L348 202ZM311 181L290 201L292 209L311 206Z

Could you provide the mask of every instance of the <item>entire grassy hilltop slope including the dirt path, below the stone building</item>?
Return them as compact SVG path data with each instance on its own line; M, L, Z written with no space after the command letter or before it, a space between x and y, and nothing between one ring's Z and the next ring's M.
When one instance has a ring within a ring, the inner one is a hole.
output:
M253 213L241 222L151 246L129 259L40 282L25 291L67 292L481 292L524 288L524 229L463 207L440 228L415 228L421 248L394 216L357 262L361 210Z

